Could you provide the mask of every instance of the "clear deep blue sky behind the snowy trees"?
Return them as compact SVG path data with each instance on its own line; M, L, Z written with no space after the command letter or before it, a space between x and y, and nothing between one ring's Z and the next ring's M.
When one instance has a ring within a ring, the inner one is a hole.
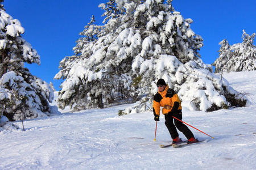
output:
M23 38L41 57L40 66L26 65L30 72L48 83L53 82L59 90L63 80L53 80L59 62L65 56L72 56L79 33L92 15L97 24L102 24L104 10L98 5L105 2L108 1L6 0L3 3L6 12L20 21L25 28ZM205 63L218 58L221 40L227 39L233 45L242 42L242 29L250 35L256 33L255 0L174 0L172 5L183 18L193 19L192 30L204 39L200 54Z

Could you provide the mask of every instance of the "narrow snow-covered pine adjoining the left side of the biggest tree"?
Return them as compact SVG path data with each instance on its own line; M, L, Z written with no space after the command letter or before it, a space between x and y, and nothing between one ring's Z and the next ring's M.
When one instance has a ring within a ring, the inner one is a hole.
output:
M95 25L94 16L90 22L85 26L84 31L80 32L80 39L77 40L76 46L73 48L74 55L67 56L60 62L59 73L55 75L55 79L66 79L61 84L61 91L59 92L58 104L59 108L64 108L71 105L75 110L85 109L90 105L88 86L85 84L83 74L86 71L86 62L92 55L92 46L98 39L101 26ZM100 84L100 83L96 83ZM97 85L96 85L97 86ZM93 96L92 96L93 97ZM89 104L86 104L89 103ZM98 107L102 107L98 105Z

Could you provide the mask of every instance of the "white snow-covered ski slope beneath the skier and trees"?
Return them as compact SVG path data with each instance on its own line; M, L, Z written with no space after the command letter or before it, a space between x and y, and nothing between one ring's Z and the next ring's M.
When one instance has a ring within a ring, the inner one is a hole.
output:
M25 131L0 132L0 169L256 169L256 71L224 74L249 107L215 112L183 110L183 121L204 142L160 148L171 142L164 117L152 112L117 116L136 104L90 109L24 122ZM22 128L22 122L15 125ZM182 139L184 135L179 133Z

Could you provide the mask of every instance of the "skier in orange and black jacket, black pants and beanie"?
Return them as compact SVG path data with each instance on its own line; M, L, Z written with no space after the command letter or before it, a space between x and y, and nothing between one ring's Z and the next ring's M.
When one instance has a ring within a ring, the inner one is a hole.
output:
M153 100L154 120L159 121L160 107L163 107L162 113L164 114L165 124L171 135L172 143L181 142L177 129L185 135L188 143L198 142L192 131L183 122L174 120L172 117L174 116L179 120L182 119L182 107L179 96L177 96L174 90L168 87L164 79L159 79L156 82L156 86L158 86L158 92L155 94Z

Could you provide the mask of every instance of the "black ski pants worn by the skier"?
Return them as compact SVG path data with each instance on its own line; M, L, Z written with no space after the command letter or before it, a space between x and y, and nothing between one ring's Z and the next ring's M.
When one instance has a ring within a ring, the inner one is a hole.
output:
M165 124L169 133L171 134L172 139L179 137L179 134L177 133L177 129L181 131L187 139L194 137L192 131L189 130L188 127L183 124L183 122L174 119L172 116L179 118L179 120L181 120L182 112L179 111L178 113L174 113L174 114L172 113L164 114L164 118L166 119Z

